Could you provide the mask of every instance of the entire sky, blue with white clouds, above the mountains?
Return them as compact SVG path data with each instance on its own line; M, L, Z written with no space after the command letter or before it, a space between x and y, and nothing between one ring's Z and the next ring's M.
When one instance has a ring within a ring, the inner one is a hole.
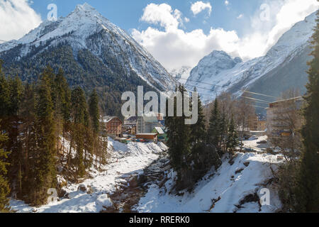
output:
M265 55L317 0L0 0L0 40L18 40L47 18L87 2L125 29L167 70L194 67L213 50L250 60Z

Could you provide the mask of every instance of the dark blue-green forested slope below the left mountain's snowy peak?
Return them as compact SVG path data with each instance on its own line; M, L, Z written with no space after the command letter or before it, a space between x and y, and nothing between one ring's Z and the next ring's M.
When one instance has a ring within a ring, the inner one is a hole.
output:
M22 45L9 50L6 55L0 54L4 60L4 73L7 76L18 75L22 81L32 83L38 82L40 73L47 65L50 65L55 73L61 68L65 72L65 78L70 87L82 87L86 96L96 89L101 99L103 113L110 116L121 116L123 92L136 92L138 86L144 86L145 91L154 90L134 71L128 74L117 65L107 67L89 50L79 50L75 57L71 45L67 43L47 50L46 47L47 45L42 45L33 48L28 55L21 57L18 61L15 61L14 53L19 52ZM116 62L111 57L106 60Z

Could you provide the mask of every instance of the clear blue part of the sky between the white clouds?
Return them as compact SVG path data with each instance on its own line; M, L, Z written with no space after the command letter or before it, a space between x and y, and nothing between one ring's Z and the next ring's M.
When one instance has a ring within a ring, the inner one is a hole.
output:
M205 33L208 33L210 28L224 28L225 30L235 30L238 35L242 35L245 29L248 29L250 16L259 8L264 2L263 0L229 0L228 6L225 6L225 1L203 1L211 3L213 7L211 16L208 16L207 11L199 13L196 17L191 12L191 4L196 1L189 0L34 0L32 4L33 9L41 14L43 20L47 16L47 5L50 3L57 4L58 16L67 16L67 14L74 10L77 4L84 4L87 2L94 6L103 16L108 18L117 26L130 31L132 28L145 29L148 24L140 21L143 9L147 4L169 4L173 9L179 9L183 16L190 19L189 23L184 26L185 31L192 31L197 28L202 28ZM243 14L241 20L237 16ZM204 23L203 21L206 21Z

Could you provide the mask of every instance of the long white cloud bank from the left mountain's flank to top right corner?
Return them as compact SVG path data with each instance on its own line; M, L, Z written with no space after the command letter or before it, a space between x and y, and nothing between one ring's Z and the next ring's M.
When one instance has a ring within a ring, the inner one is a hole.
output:
M262 21L258 9L250 17L251 24L242 37L238 37L236 31L223 28L211 28L208 34L202 29L186 32L181 29L181 12L167 4L148 5L141 18L141 21L159 24L164 31L150 26L145 31L133 29L132 35L168 70L184 65L194 67L213 50L224 50L233 57L249 60L264 55L293 24L319 6L317 0L269 0L268 3L272 9L270 20Z

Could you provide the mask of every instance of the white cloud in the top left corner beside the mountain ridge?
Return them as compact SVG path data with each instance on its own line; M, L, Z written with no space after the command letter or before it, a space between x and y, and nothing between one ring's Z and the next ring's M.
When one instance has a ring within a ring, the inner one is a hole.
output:
M21 38L41 23L41 17L30 7L29 0L0 0L0 38Z

